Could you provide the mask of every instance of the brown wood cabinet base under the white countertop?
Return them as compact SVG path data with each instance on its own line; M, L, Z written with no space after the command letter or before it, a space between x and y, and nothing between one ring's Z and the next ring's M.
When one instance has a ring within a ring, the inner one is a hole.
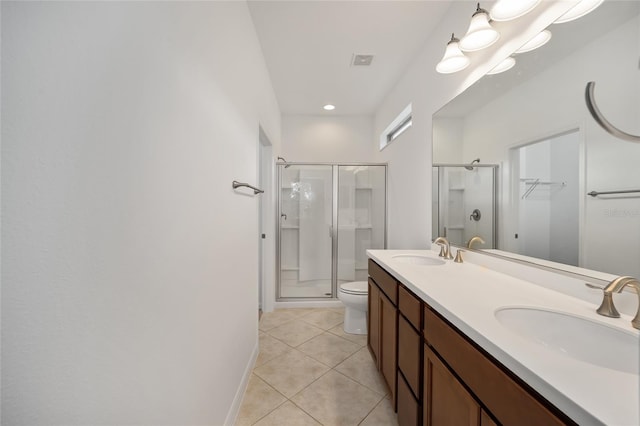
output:
M368 326L400 426L575 425L372 260Z

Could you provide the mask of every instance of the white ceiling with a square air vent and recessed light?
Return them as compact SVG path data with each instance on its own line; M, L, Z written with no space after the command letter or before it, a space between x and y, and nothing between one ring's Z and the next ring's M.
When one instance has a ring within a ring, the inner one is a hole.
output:
M448 1L249 1L282 114L371 115ZM374 55L352 66L354 54ZM327 113L322 106L336 106Z

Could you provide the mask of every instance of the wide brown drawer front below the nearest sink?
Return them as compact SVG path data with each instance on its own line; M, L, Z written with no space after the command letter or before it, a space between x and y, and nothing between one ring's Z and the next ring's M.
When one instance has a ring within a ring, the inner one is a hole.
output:
M519 384L431 309L424 311L424 337L502 424L575 424L544 398Z

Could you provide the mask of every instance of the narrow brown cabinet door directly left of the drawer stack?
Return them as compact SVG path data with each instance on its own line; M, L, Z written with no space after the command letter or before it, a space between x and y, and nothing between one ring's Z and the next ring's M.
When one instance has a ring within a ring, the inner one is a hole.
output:
M393 303L380 294L380 371L384 376L389 390L391 401L396 410L396 334L398 330L398 311Z

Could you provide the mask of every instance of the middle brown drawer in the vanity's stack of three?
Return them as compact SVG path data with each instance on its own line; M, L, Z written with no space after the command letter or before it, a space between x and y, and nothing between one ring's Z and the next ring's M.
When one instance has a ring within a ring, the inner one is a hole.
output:
M413 394L420 398L420 335L402 316L398 316L398 369L402 371ZM398 382L400 378L398 378Z

